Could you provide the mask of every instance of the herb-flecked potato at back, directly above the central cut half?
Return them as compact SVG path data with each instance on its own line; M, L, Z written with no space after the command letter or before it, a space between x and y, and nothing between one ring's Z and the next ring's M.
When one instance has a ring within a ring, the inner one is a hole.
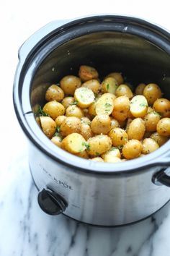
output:
M113 77L107 77L102 82L102 91L104 93L112 93L115 94L118 86L117 80Z

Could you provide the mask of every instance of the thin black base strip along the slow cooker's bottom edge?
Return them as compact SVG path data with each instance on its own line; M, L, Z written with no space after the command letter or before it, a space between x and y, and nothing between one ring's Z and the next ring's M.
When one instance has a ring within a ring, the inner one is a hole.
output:
M31 171L31 168L30 168L30 174L32 176L32 171ZM37 187L37 184L35 183L35 179L33 178L32 176L32 181L34 182L35 184L35 187L37 188L37 191L40 191L40 189ZM67 218L71 218L71 220L73 221L76 221L76 222L79 222L79 223L82 223L82 224L85 224L85 225L89 225L89 226L94 226L94 227L103 227L103 228L119 228L119 227L123 227L123 226L130 226L130 225L134 225L138 222L141 222L141 221L145 221L147 218L151 218L154 214L158 213L159 210L161 210L162 208L164 208L165 205L167 205L168 203L170 202L170 199L161 207L159 208L158 210L156 210L154 213L146 216L145 218L141 218L140 220L138 221L133 221L133 222L130 222L130 223L125 223L125 224L122 224L122 225L96 225L96 224L91 224L91 223L86 223L86 222L83 222L83 221L77 221L75 218L72 218L70 216L67 216L65 213L62 213L64 216L66 216Z

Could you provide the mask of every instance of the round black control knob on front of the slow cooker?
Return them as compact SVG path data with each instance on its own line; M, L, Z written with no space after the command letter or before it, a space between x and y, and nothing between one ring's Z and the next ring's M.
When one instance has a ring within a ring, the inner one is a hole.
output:
M53 216L63 213L68 206L66 200L51 189L42 189L37 201L45 213Z

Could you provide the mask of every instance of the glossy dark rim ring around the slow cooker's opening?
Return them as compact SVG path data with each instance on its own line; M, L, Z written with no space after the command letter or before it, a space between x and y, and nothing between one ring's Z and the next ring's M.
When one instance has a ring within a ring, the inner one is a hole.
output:
M57 24L57 23L56 23ZM81 25L81 29L80 28ZM24 86L24 77L28 72L28 66L30 63L35 61L35 58L38 59L38 65L35 67L32 72L34 74L37 68L40 66L42 61L50 54L54 48L61 46L63 43L66 43L68 40L73 38L77 38L81 35L86 35L87 33L95 33L101 31L117 31L122 33L130 33L133 35L137 35L144 40L148 40L151 43L155 44L167 54L170 54L170 35L166 30L161 29L161 27L157 27L149 22L144 20L140 20L138 18L133 17L122 17L115 15L104 15L104 16L94 16L94 17L86 17L79 20L75 20L73 22L68 22L63 27L58 27L56 30L53 30L50 33L40 40L40 42L32 48L32 51L27 54L27 58L22 65L22 69L19 73L19 81L14 81L14 108L17 113L17 118L19 119L19 123L22 126L25 134L34 145L37 146L43 153L53 158L55 161L61 162L67 166L72 167L74 170L79 169L81 171L87 171L100 174L120 174L123 172L134 172L137 169L143 170L143 167L155 166L156 164L164 164L164 159L161 160L161 156L169 150L169 143L166 142L161 148L151 153L150 155L145 156L145 161L142 158L137 158L135 160L130 160L125 163L97 163L94 161L88 161L83 158L78 158L75 155L71 155L60 148L57 148L53 143L42 134L42 131L37 126L37 133L35 135L35 131L30 129L29 122L25 119L26 114L32 114L31 106L30 111L23 112L23 101L21 101L22 92L22 84ZM55 44L53 40L55 38ZM59 38L61 40L59 40ZM30 38L31 39L31 38ZM53 43L53 47L48 47L48 51L43 51L45 46L49 46L49 43ZM41 57L40 57L41 52ZM22 59L22 56L21 56ZM37 62L36 62L37 63ZM17 71L19 72L19 71ZM32 73L32 77L34 76ZM17 74L16 74L17 76ZM28 82L28 81L27 81ZM32 79L29 84L31 85ZM28 86L27 86L28 89ZM29 88L30 89L30 88ZM21 104L22 103L22 104ZM32 121L35 121L33 115ZM36 121L35 121L36 123ZM36 124L37 125L37 124ZM39 136L40 135L40 136Z

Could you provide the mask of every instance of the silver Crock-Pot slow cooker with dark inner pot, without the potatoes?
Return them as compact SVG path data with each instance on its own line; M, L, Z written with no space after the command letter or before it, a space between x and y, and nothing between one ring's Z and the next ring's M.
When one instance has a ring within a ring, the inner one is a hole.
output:
M35 121L45 90L80 64L102 77L122 72L128 81L157 82L170 96L170 35L133 17L99 15L51 22L19 49L14 108L29 139L30 170L46 213L103 226L139 221L169 201L169 146L123 163L97 163L56 147Z

